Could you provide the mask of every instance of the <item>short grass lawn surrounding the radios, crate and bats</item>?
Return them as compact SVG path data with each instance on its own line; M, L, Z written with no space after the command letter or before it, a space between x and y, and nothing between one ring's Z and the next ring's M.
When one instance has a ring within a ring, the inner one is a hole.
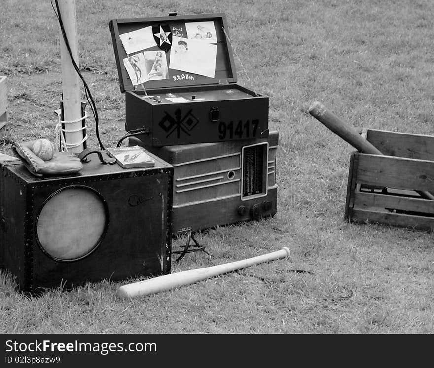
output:
M279 131L278 213L197 238L203 252L172 272L288 246L288 259L149 297L119 300L120 283L27 298L0 273L0 333L433 333L433 233L343 219L354 149L308 113L319 100L358 129L434 135L431 0L76 0L79 63L107 146L124 133L109 20L224 12L239 83L270 97ZM61 100L50 1L7 0L0 75L9 83L10 142L55 139ZM90 111L89 111L90 113ZM88 145L97 148L93 121ZM173 248L185 238L173 241ZM304 270L308 272L294 272Z

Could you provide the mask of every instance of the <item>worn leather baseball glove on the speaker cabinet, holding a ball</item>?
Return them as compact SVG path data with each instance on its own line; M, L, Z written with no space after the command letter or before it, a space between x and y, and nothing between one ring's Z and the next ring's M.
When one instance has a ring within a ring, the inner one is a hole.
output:
M33 175L69 175L83 168L81 160L70 152L55 151L51 160L42 160L32 151L34 142L35 141L32 140L12 144L12 151L21 159L24 166L27 167Z

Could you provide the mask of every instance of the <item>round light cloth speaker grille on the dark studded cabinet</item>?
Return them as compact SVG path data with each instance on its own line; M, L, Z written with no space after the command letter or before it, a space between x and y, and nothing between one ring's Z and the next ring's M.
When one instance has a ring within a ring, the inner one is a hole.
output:
M105 201L92 188L71 186L51 195L36 220L42 250L58 261L86 257L106 232L108 211Z

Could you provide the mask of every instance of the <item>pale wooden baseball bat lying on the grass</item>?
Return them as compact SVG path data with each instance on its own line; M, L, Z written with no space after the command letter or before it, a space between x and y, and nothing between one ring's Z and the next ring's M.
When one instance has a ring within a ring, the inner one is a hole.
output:
M134 282L132 284L122 285L117 290L117 296L121 298L133 298L141 295L149 295L166 291L179 286L194 284L197 281L205 280L206 278L221 275L226 272L231 272L236 269L245 268L256 265L261 262L274 261L279 258L285 258L290 255L287 247L281 250L247 258L241 261L225 263L205 268L190 269L187 271L170 273L168 275L150 278L144 281Z

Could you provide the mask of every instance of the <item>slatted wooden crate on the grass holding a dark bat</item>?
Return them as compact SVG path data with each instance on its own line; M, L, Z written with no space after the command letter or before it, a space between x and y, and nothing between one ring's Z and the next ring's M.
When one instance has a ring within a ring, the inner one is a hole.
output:
M434 230L434 136L375 129L362 135L385 156L353 152L345 219Z

